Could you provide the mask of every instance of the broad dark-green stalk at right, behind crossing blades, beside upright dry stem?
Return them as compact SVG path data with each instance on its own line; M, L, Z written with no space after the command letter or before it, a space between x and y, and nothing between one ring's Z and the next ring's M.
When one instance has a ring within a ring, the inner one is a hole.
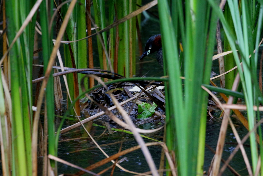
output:
M230 9L229 9L227 2L225 4L224 16L225 16L225 19L227 20L227 23L229 24L230 30L232 32L235 32L233 20L232 20ZM231 47L229 45L227 37L224 37L224 50L231 51ZM224 58L225 58L224 60L225 72L236 66L233 54L227 54L224 56ZM235 71L225 74L225 88L226 89L231 90L232 84L234 83L234 79L235 79Z

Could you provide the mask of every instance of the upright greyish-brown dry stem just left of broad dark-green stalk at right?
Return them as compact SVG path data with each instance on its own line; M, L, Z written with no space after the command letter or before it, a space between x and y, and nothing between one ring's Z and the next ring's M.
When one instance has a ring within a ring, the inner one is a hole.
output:
M223 52L222 50L222 41L221 41L221 34L220 34L220 24L219 20L217 21L217 27L216 27L216 46L217 46L217 53L220 54ZM222 74L225 72L225 65L224 65L224 58L220 57L218 58L218 64L219 64L219 73ZM220 85L222 88L225 88L225 77L220 77Z

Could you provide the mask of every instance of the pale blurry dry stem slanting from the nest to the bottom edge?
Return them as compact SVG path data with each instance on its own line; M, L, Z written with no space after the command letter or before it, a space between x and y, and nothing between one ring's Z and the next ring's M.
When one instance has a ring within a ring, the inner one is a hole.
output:
M157 168L154 164L153 158L151 157L151 154L149 152L149 149L145 145L145 142L143 138L140 136L139 132L136 130L136 127L134 123L131 121L130 117L127 115L127 113L124 111L124 109L120 106L117 99L111 94L110 97L112 98L114 104L117 106L120 114L124 118L125 122L130 126L131 131L133 132L134 138L138 142L138 144L141 146L141 150L143 151L144 157L149 165L149 168L151 172L153 173L153 176L158 176ZM175 176L175 175L174 175Z

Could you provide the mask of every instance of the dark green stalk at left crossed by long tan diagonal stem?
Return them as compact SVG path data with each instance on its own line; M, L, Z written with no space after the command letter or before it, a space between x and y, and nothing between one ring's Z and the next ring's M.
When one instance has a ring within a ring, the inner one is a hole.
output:
M53 4L53 3L51 3ZM52 9L52 6L50 7ZM49 25L49 10L46 8L46 2L43 1L40 5L40 22L42 27L42 47L43 47L43 62L44 62L44 71L47 69L49 57L51 50L53 48L52 43L52 34L48 32ZM53 15L53 14L51 14ZM52 30L51 30L52 31ZM52 71L53 73L53 71ZM48 118L48 153L51 155L57 155L55 150L55 136L54 136L54 81L52 73L48 79L45 99L47 101L47 118ZM55 167L55 162L50 161L51 166Z

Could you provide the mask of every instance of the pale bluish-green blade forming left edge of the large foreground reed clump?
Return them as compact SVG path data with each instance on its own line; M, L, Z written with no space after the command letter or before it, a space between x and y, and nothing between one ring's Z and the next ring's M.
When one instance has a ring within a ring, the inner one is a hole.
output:
M173 26L170 21L170 14L168 10L168 3L167 1L158 1L158 11L159 11L159 17L160 17L160 26L161 26L161 35L162 35L162 46L163 46L163 54L164 54L164 61L166 64L164 64L168 69L169 74L169 87L173 88L175 91L169 91L169 98L170 101L166 106L169 106L169 112L170 115L169 118L174 117L175 121L177 120L176 117L181 117L181 119L184 119L184 107L183 107L183 94L182 94L182 86L181 86L181 80L180 80L180 70L179 63L178 63L178 45L177 45L177 39L175 38L175 33L173 30ZM167 59L167 60L166 60ZM173 68L172 68L173 67ZM169 90L169 88L168 88ZM168 93L166 92L166 97L168 96ZM171 102L171 104L169 104ZM170 108L171 107L171 108ZM178 122L177 122L178 123ZM176 124L176 123L175 123ZM183 139L186 139L186 121L181 121L180 126L182 130L179 131L179 124L176 126L176 134L181 134L180 136L177 136L178 141L178 155L180 163L179 173L186 172L187 175L187 145L186 141ZM172 132L171 126L167 126L168 132ZM172 132L173 133L173 132ZM167 135L167 141L171 137ZM171 147L171 144L169 144Z

